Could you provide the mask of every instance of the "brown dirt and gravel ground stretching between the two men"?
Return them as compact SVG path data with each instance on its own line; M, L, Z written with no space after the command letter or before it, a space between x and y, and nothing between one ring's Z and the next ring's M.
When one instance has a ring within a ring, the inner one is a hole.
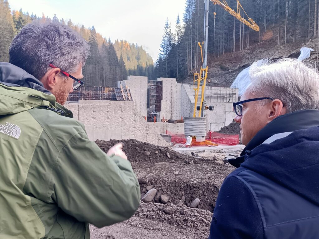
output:
M91 238L208 238L219 188L235 169L223 159L238 156L243 146L170 149L136 140L96 141L105 152L117 142L124 144L142 196L154 189L157 194L151 202L141 202L127 221L104 228L90 225ZM198 206L190 207L197 198Z

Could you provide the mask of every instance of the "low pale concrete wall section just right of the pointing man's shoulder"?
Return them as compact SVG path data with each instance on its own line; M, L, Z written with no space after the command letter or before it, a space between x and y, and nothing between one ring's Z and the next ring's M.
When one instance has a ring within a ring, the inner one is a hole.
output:
M146 122L133 101L80 100L65 107L85 125L90 140L136 139L160 146L167 142L159 134L166 130L183 134L183 124Z

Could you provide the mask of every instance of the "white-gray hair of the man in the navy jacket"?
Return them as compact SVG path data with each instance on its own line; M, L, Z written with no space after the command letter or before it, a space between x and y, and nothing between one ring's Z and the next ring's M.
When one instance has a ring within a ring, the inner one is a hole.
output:
M287 113L319 109L319 75L304 62L291 58L262 65L255 62L249 69L249 75L249 93L257 97L280 99ZM258 106L265 104L267 100L261 100Z

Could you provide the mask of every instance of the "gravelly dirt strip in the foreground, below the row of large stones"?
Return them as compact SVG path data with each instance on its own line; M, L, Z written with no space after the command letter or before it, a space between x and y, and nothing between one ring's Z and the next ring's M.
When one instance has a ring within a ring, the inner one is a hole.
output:
M90 225L92 239L207 239L211 213L198 208L175 207L173 214L164 212L174 205L143 203L129 220L104 228Z

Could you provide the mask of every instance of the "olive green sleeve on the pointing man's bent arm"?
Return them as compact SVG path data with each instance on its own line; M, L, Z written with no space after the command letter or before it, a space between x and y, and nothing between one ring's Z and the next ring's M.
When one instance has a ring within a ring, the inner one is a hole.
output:
M85 132L62 148L52 170L51 198L78 221L104 227L129 219L140 189L128 160L108 157Z

